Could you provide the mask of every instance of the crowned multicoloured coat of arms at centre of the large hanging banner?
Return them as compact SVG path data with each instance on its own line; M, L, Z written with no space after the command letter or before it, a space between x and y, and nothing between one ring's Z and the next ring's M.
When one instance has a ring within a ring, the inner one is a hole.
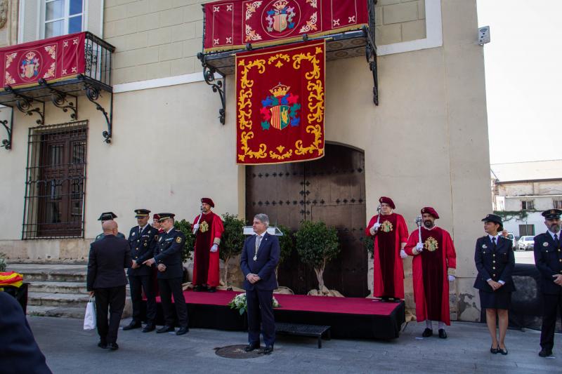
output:
M260 113L263 117L261 128L269 130L270 126L277 130L283 130L287 126L299 126L301 117L299 117L299 96L289 93L291 87L285 84L277 84L271 88L269 92L272 94L261 100Z

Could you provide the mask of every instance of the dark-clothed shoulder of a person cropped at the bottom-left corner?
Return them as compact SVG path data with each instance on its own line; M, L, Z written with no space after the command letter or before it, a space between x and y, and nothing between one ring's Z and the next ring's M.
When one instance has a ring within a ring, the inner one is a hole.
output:
M19 302L0 292L0 373L51 374Z

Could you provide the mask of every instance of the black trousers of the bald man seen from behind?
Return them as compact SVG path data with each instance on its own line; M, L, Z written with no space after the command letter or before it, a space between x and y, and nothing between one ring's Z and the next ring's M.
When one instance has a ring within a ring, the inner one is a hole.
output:
M96 288L96 323L98 335L103 343L117 342L117 330L125 308L125 286ZM109 323L107 311L109 310Z

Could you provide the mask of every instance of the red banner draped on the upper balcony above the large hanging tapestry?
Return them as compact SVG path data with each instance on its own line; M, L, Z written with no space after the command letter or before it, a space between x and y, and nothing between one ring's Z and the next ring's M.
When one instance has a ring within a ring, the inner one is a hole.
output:
M372 0L230 0L204 5L204 52L272 46L361 29Z

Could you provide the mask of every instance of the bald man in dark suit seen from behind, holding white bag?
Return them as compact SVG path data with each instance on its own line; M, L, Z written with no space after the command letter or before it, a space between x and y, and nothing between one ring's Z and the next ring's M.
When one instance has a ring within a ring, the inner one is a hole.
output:
M96 323L100 342L98 347L112 351L119 349L117 330L125 307L126 278L124 268L131 267L131 248L126 239L118 238L117 222L102 224L103 239L90 245L87 289L96 296ZM107 307L110 319L107 324Z

